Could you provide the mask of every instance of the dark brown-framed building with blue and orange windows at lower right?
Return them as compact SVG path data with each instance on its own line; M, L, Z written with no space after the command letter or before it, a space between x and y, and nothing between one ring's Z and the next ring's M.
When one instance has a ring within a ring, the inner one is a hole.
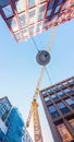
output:
M39 95L54 142L74 142L74 76Z

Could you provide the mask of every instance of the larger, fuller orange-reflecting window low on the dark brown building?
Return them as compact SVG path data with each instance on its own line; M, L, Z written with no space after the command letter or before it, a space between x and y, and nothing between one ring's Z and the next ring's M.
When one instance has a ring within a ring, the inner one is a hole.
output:
M59 125L57 128L63 142L71 142L73 140L70 131L67 130L64 123Z

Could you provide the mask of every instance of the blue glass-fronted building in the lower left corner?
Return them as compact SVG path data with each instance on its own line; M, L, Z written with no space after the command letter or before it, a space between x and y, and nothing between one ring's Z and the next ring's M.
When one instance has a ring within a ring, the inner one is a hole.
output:
M8 97L0 98L0 142L33 142L22 115Z

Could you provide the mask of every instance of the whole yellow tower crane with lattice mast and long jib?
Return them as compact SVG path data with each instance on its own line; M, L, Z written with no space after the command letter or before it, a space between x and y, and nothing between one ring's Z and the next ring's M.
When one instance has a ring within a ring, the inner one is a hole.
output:
M57 27L53 28L53 32L52 32L52 35L51 35L51 38L50 38L50 44L49 44L49 47L48 47L48 50L47 50L48 52L50 52L50 49L52 47L55 31L57 31ZM46 66L42 66L41 72L40 72L40 75L39 75L39 80L38 80L38 83L37 83L37 86L36 86L36 91L35 91L35 94L33 96L33 102L32 102L29 114L28 114L28 118L27 118L27 121L26 121L26 128L28 128L29 122L30 122L30 118L32 118L32 115L33 115L35 142L44 142L42 134L41 134L40 121L39 121L37 96L39 94L39 87L40 87L40 84L41 84L41 81L42 81L45 70L46 70Z

